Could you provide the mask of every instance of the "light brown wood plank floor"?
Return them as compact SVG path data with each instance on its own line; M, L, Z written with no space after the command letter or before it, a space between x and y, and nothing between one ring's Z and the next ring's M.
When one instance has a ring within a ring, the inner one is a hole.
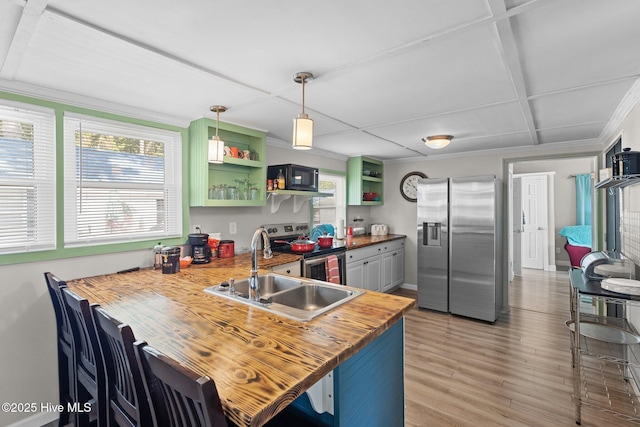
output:
M509 294L510 311L494 324L424 309L407 315L407 427L576 425L568 273L526 270ZM581 425L632 422L583 406Z

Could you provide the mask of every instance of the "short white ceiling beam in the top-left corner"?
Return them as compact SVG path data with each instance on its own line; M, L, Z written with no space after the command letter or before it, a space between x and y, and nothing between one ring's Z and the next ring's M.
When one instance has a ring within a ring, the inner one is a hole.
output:
M22 55L27 50L31 36L35 32L48 3L49 0L29 0L24 5L13 39L9 44L9 50L0 67L0 77L11 80L15 76Z

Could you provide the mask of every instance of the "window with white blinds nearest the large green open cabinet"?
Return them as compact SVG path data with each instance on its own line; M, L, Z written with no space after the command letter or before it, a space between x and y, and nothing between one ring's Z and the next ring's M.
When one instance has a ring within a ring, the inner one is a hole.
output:
M182 234L178 132L65 116L65 247Z

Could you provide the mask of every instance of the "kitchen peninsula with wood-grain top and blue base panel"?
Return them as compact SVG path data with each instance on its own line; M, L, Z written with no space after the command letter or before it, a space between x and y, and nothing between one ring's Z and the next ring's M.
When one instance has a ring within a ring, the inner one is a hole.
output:
M275 258L260 259L260 266L288 261ZM204 292L248 276L242 259L177 274L143 269L95 276L68 286L131 325L137 339L213 378L226 415L238 425L264 424L332 371L328 424L404 425L404 314L415 302L365 292L297 322Z

